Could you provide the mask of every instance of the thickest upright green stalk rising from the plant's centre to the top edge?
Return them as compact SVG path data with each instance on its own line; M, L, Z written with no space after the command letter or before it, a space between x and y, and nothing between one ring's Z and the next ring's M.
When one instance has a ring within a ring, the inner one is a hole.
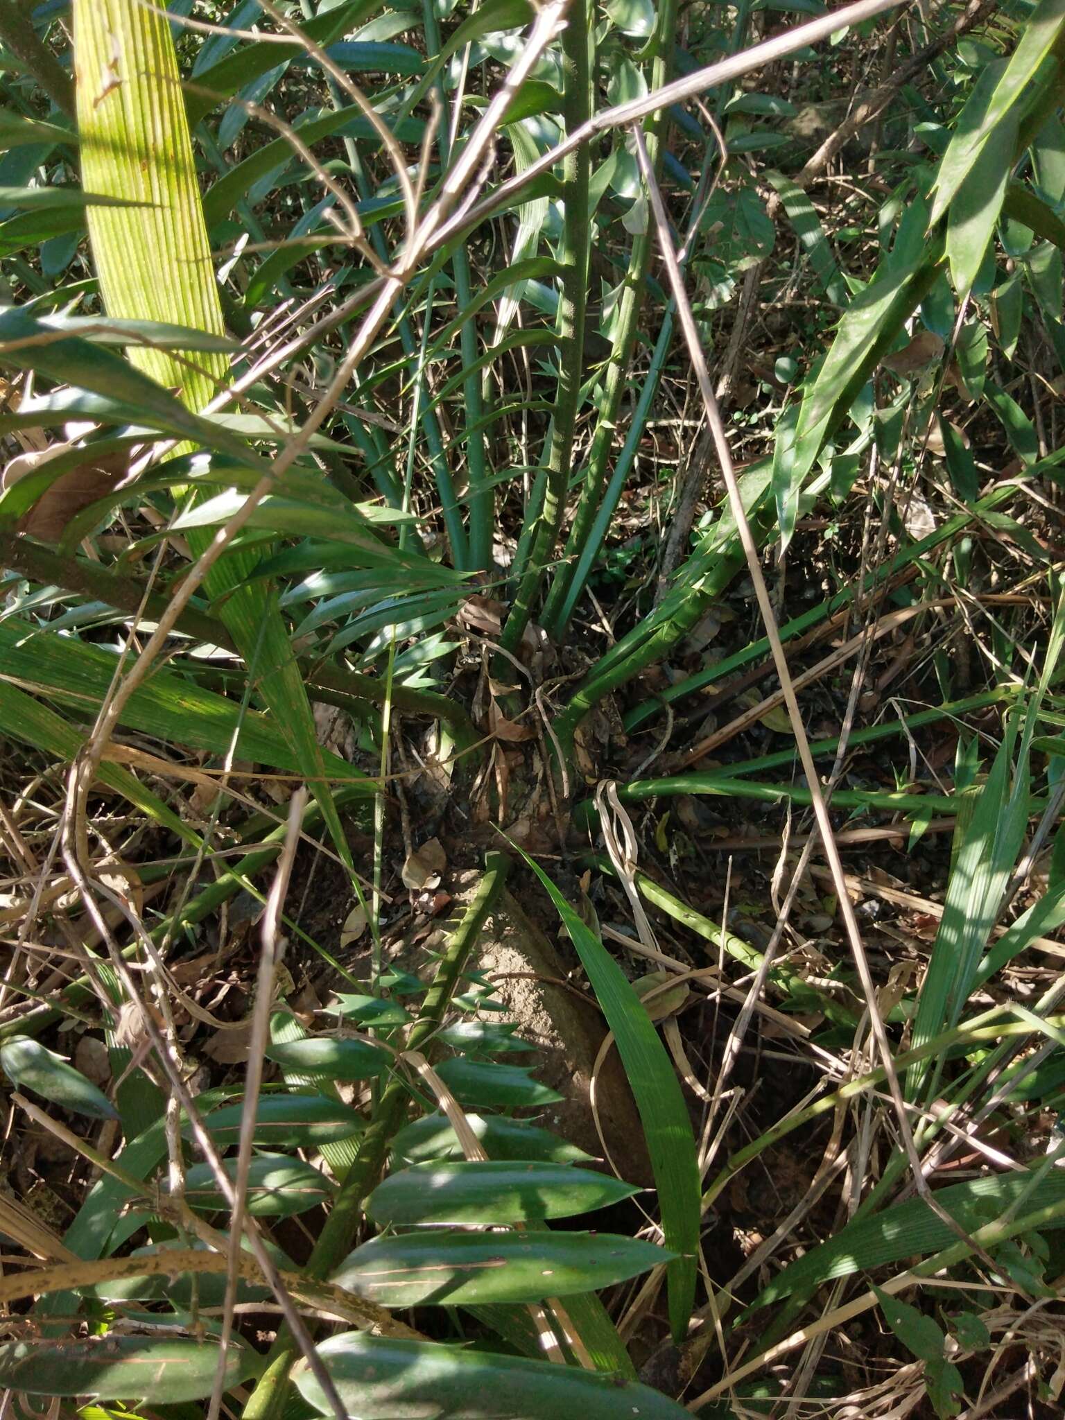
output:
M569 7L562 31L562 67L565 95L562 112L568 133L581 128L591 114L588 13L577 3ZM558 261L562 267L562 293L558 302L558 383L555 419L545 463L544 507L537 520L528 565L518 584L514 605L503 628L500 645L514 653L532 615L547 565L554 557L565 515L569 470L577 436L584 368L584 322L588 304L588 253L591 246L588 179L591 153L586 143L568 153L562 170L565 220Z

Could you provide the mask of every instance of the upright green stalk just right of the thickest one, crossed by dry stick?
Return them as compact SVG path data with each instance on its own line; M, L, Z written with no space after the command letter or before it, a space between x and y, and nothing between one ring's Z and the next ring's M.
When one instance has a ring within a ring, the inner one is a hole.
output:
M663 0L659 6L655 31L650 38L650 48L653 48L655 53L655 61L650 71L652 92L662 88L672 78L676 23L677 0ZM662 128L665 118L666 115L659 109L656 114L652 114L643 129L648 155L650 156L652 166L655 169L656 182L662 176L662 158L665 152L665 145L662 143ZM601 511L606 466L609 463L613 439L618 432L618 412L628 386L632 354L636 348L643 288L648 281L653 248L653 229L650 222L648 222L646 231L642 231L635 237L632 251L629 253L629 268L625 273L618 310L618 325L606 362L602 405L599 408L599 417L595 425L592 444L588 453L588 469L581 484L574 525L571 527L569 537L567 538L565 557L555 568L551 591L548 592L547 604L544 606L544 629L555 640L559 640L565 633L565 628L574 612L574 604L579 596L581 588L584 586L584 581L588 575L591 559L585 558L584 554L589 545L596 521L601 523L601 518L596 518L596 515ZM584 575L574 591L578 558L581 558Z

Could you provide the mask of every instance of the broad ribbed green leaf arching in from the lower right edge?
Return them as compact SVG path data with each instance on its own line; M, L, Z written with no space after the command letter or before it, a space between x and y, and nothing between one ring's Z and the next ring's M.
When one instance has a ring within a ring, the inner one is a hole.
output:
M1001 1217L1021 1196L1025 1211L1065 1201L1065 1170L1051 1169L1038 1180L1028 1170L970 1179L967 1183L939 1189L936 1201L967 1233L973 1233ZM1061 1225L1065 1225L1065 1218ZM763 1288L750 1311L770 1306L794 1292L805 1295L822 1282L839 1277L853 1277L855 1272L869 1272L905 1258L939 1252L956 1240L957 1234L923 1198L895 1203L883 1213L848 1223L828 1241L804 1252Z

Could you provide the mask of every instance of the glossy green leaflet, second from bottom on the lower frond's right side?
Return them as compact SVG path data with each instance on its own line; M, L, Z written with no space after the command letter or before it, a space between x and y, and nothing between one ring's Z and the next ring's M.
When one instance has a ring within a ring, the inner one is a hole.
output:
M329 1281L383 1306L540 1302L598 1291L669 1262L612 1233L426 1233L373 1238Z

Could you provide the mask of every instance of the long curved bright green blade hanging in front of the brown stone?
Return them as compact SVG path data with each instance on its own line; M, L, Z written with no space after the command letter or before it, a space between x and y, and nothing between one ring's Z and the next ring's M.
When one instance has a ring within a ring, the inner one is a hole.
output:
M659 1191L666 1247L679 1254L669 1264L669 1319L674 1339L684 1335L696 1288L700 1228L700 1174L692 1118L673 1062L646 1008L602 941L569 906L547 873L525 859L562 919L596 1000L618 1042L625 1075L639 1109Z

